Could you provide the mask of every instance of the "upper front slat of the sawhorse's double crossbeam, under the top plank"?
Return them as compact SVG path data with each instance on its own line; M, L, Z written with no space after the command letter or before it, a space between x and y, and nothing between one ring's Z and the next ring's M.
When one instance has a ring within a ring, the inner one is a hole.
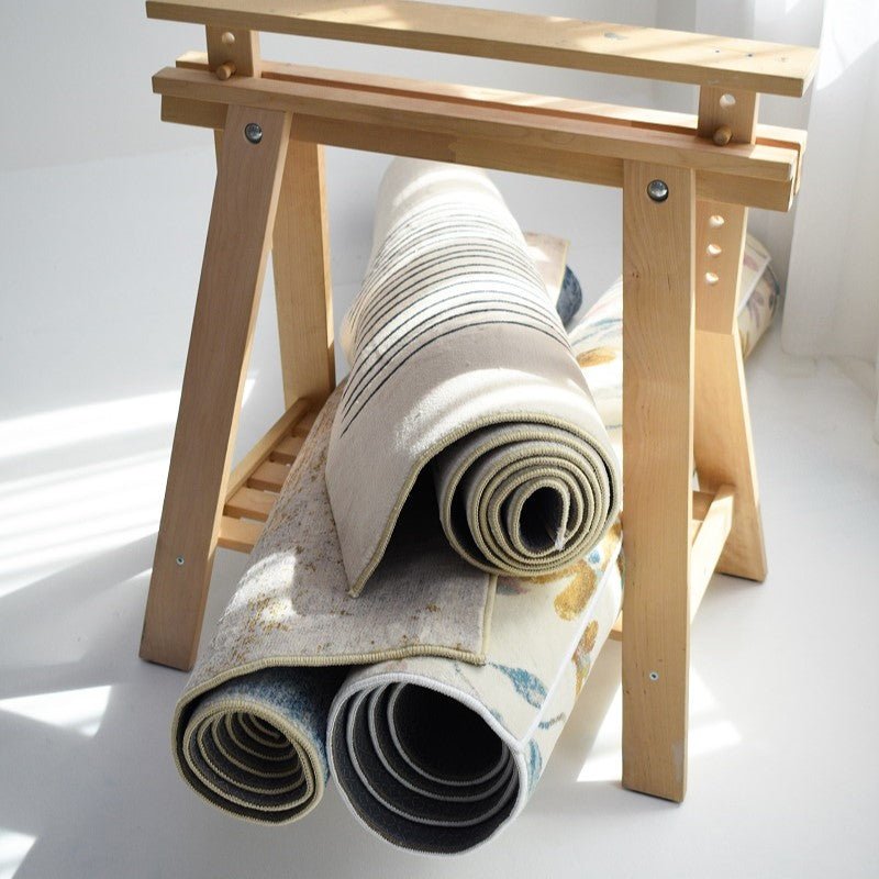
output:
M731 144L721 149L703 138L652 129L274 79L233 78L220 82L210 73L176 67L156 74L153 89L178 98L283 109L335 120L346 127L404 129L430 135L446 154L454 154L459 140L487 140L496 152L546 148L555 143L564 145L565 152L583 156L665 162L715 174L790 182L791 188L798 159L795 151L761 144ZM300 125L299 119L296 125ZM296 136L305 140L302 133ZM323 138L321 142L329 143Z

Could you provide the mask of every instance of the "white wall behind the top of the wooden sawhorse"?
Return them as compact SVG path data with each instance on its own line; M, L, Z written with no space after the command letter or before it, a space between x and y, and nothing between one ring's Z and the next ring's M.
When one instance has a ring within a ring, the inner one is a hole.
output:
M649 25L657 0L467 4ZM1 0L0 11L0 171L204 143L204 132L159 123L158 98L149 87L153 73L175 56L203 47L201 27L147 20L143 0ZM566 70L271 34L263 37L263 54L550 94L591 94L608 85L607 78ZM619 98L643 93L637 80L611 85Z

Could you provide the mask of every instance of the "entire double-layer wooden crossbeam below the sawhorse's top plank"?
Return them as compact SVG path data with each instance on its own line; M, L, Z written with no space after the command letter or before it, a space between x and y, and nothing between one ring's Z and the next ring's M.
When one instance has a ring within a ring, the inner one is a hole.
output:
M153 88L174 99L163 101L164 119L187 121L182 116L194 115L200 102L285 109L294 114L292 134L299 140L608 186L622 186L624 160L661 159L693 168L700 198L772 210L790 205L799 166L797 148L717 147L692 133L559 116L534 107L348 88L332 80L233 77L221 82L205 70L165 68L153 78ZM218 124L211 112L201 124Z

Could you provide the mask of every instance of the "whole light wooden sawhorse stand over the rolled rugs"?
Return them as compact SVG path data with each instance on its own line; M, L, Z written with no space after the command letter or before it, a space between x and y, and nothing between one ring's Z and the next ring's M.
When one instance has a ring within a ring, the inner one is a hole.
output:
M334 386L322 144L620 187L623 783L680 801L690 621L715 569L766 575L736 292L747 209L789 209L805 136L757 124L758 92L803 94L815 51L409 0L146 8L207 27L153 88L219 170L141 656L191 668L216 546L253 547ZM260 31L688 82L699 114L264 62ZM230 475L271 248L287 412Z

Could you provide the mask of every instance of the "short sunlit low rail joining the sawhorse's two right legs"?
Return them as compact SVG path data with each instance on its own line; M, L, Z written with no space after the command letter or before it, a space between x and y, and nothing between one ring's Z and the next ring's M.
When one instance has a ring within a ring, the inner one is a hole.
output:
M723 545L733 526L735 489L722 486L716 493L693 492L693 518L690 522L690 620L696 617L708 585L714 574ZM625 527L625 525L623 525ZM614 641L623 638L623 614L611 628Z

